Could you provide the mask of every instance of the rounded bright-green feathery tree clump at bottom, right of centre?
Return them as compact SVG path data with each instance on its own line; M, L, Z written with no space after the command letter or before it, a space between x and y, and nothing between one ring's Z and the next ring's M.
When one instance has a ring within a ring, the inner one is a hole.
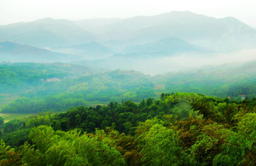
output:
M181 148L175 132L163 126L157 119L146 120L138 126L135 135L142 154L143 165L174 165L179 159Z

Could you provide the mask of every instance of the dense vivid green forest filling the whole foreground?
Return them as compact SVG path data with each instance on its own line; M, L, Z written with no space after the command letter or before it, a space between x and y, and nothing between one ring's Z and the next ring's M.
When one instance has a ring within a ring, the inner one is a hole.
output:
M256 98L194 93L1 123L0 165L255 165Z

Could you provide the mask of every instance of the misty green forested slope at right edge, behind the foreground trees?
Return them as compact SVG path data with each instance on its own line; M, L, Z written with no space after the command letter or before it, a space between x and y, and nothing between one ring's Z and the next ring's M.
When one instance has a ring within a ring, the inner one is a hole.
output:
M239 99L239 95L256 94L256 61L244 64L207 66L198 70L155 76L170 92L195 92L211 96Z

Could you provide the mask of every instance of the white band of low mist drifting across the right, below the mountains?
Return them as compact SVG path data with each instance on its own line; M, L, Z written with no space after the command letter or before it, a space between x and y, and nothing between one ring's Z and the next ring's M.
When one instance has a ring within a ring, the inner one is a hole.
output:
M141 71L145 74L156 75L167 72L179 72L191 69L199 69L204 65L222 65L226 63L234 63L234 65L241 65L244 62L256 59L256 49L244 49L233 53L214 53L214 54L195 54L186 53L174 55L171 57L157 57L150 59L137 59L135 61L127 61L127 63L118 65L114 62L110 69L132 69Z

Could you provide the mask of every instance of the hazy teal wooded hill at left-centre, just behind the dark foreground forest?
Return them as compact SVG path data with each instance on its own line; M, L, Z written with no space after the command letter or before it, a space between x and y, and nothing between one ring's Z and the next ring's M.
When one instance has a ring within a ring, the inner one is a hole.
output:
M111 71L90 76L43 82L31 87L22 98L5 105L6 113L38 113L64 111L70 106L86 105L87 102L121 102L154 97L154 83L137 71Z

